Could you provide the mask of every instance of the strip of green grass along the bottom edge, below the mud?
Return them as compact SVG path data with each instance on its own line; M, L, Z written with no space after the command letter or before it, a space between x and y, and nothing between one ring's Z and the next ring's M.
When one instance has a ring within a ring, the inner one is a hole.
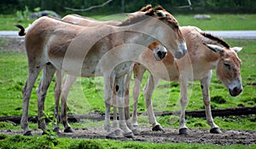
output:
M0 148L70 148L70 149L80 149L80 148L140 148L140 149L152 149L152 148L205 148L205 149L241 149L241 148L253 148L255 145L242 146L242 145L232 145L232 146L218 146L210 144L189 144L189 143L142 143L137 141L120 141L120 140L81 140L81 139L67 139L67 138L56 138L54 135L43 135L43 136L33 136L27 137L22 135L0 135Z

